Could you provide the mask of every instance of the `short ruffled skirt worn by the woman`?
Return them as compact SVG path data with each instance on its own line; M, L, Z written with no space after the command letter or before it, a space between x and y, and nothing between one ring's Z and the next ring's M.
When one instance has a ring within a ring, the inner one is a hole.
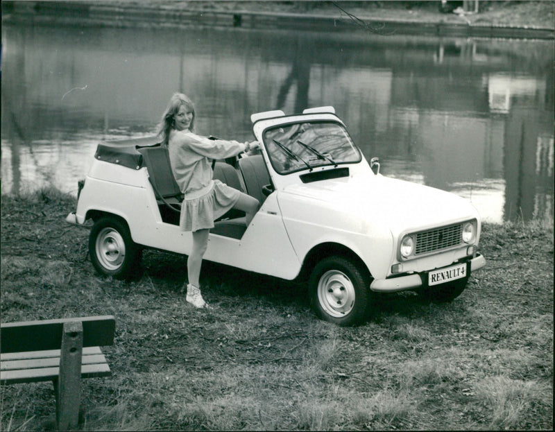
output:
M214 227L214 221L221 218L239 200L241 192L220 180L214 180L210 192L198 198L183 200L179 227L182 231L204 230Z

